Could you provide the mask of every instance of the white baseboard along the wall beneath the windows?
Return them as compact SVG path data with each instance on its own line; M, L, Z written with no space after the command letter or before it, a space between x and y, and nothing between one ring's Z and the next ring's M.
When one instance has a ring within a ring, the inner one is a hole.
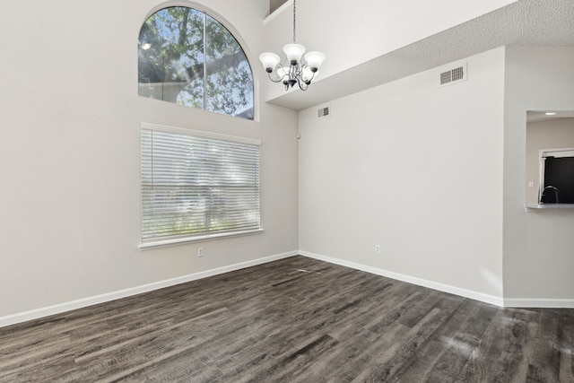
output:
M251 267L254 265L262 265L268 262L276 261L279 259L293 257L298 255L298 251L291 251L288 253L278 254L271 257L264 257L259 259L254 259L248 262L242 262L235 265L228 265L224 267L219 267L213 270L207 270L201 273L188 274L179 276L177 278L168 279L165 281L154 282L144 284L142 286L131 287L126 290L120 290L118 292L108 292L105 294L97 295L90 298L83 298L81 300L73 300L70 302L60 303L54 306L49 306L41 309L33 309L30 311L25 311L18 314L8 315L5 317L0 317L0 327L15 325L17 323L26 322L32 319L44 318L50 315L61 314L66 311L73 309L82 309L84 307L92 306L99 303L108 302L110 300L118 300L121 298L130 297L132 295L140 294L142 292L152 292L154 290L159 290L164 287L174 286L179 283L187 283L191 281L196 281L198 279L207 278L209 276L229 273L231 271L239 270L246 267Z

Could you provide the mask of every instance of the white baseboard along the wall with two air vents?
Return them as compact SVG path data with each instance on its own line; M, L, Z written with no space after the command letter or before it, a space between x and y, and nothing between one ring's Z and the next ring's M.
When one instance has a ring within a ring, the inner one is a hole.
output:
M473 292L471 290L461 289L460 287L451 286L444 283L436 283L432 281L427 281L425 279L416 278L410 275L398 274L391 271L379 269L377 267L371 267L368 265L361 265L354 262L344 261L343 259L320 256L317 254L309 253L308 251L300 251L300 255L310 258L315 258L321 261L329 262L335 265L342 265L346 267L351 267L356 270L361 270L370 274L377 274L386 276L388 278L396 279L398 281L403 281L406 283L413 283L422 287L428 287L433 290L438 290L439 292L448 292L450 294L455 294L461 297L470 298L472 300L480 300L485 303L490 303L491 305L503 307L505 301L493 295L484 294L483 292Z

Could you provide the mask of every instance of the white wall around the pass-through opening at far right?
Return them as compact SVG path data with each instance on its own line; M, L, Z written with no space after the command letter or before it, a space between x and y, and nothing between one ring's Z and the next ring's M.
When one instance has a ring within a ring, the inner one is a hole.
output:
M504 295L509 305L574 307L574 213L526 213L526 110L574 109L574 48L507 49Z

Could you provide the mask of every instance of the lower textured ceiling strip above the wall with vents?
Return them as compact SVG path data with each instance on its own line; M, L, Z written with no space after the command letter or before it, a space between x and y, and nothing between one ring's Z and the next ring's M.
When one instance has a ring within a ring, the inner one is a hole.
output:
M574 45L574 0L520 0L269 102L301 110L513 45ZM384 70L381 70L384 68Z

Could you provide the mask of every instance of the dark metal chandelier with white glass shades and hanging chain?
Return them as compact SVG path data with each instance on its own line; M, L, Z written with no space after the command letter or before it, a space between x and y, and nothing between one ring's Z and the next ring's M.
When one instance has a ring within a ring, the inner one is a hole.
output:
M262 53L259 60L261 60L269 80L274 83L283 83L285 91L288 91L295 84L299 85L301 91L307 91L307 87L325 61L325 55L321 52L308 52L304 59L301 58L305 53L305 47L297 44L296 40L297 7L295 2L296 0L293 0L293 43L283 47L286 60L282 64L281 58L272 52Z

